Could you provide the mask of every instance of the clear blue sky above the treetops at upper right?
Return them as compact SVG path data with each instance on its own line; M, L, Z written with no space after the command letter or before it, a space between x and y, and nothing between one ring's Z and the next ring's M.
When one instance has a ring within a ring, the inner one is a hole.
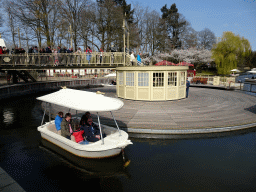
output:
M167 4L176 4L178 12L184 15L193 29L210 29L216 37L231 31L244 37L256 51L256 0L126 0L128 4L138 3L150 10L161 12Z

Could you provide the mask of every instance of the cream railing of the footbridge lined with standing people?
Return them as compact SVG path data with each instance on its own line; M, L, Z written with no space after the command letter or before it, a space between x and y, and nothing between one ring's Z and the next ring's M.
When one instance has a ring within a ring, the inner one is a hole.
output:
M35 54L1 54L1 66L125 66L129 57L123 52L82 53L35 53Z

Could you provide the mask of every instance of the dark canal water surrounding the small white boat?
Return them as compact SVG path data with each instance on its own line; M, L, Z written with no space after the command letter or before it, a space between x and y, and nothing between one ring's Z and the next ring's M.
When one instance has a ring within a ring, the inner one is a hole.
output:
M82 162L41 142L39 95L0 101L0 167L27 192L256 190L255 129L190 138L131 138L124 160L120 155Z

